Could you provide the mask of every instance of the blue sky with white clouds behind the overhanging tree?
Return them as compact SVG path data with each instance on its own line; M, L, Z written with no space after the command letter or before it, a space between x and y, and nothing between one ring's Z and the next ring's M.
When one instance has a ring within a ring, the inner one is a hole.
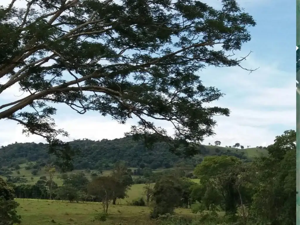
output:
M3 3L2 3L3 2ZM6 4L8 0L2 0ZM218 0L205 0L213 7L220 7ZM295 129L295 2L283 0L237 0L256 20L250 28L252 40L242 46L238 55L252 53L243 62L247 68L258 68L250 73L239 67L207 67L199 72L203 84L215 86L226 95L214 105L231 110L229 117L217 116L215 135L207 137L203 144L218 140L221 146L240 143L243 146L268 146L275 136L283 131ZM23 5L21 1L16 4ZM1 83L1 79L0 79ZM0 105L17 99L18 87L8 88L0 95ZM64 141L88 138L91 140L112 140L124 137L135 125L134 119L120 125L96 112L76 114L60 105L54 117L59 128L70 135ZM157 123L169 134L170 124ZM13 121L0 121L0 146L14 142L45 142L41 137L22 134L22 126Z

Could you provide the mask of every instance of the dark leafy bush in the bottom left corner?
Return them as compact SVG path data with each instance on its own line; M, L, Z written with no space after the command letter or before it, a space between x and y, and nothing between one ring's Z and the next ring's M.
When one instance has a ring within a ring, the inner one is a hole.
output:
M13 225L21 222L16 208L19 203L13 199L13 189L0 178L0 225Z

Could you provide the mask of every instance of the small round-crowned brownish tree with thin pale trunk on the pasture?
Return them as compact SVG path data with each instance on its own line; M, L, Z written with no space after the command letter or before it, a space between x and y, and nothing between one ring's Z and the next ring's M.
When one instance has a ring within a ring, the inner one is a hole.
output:
M87 186L88 194L101 200L103 212L107 213L109 204L116 198L116 193L125 189L121 182L112 176L101 176L92 180ZM125 195L125 193L124 193Z

